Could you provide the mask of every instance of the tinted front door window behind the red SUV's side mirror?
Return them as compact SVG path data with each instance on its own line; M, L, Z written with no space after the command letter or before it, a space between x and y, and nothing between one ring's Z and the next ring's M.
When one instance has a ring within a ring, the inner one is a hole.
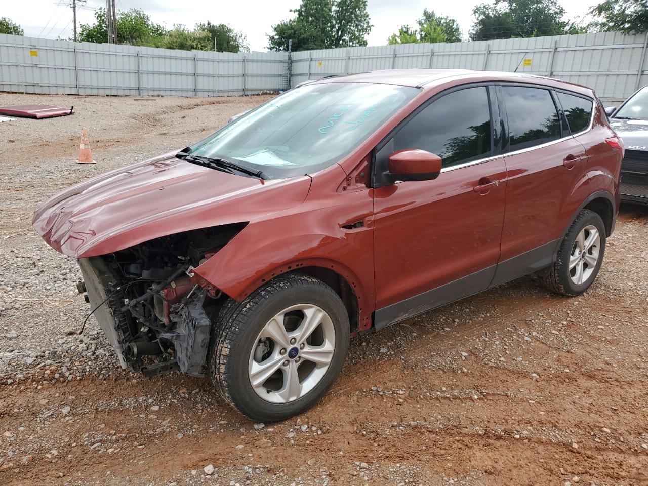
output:
M420 148L455 165L491 153L491 114L486 88L445 95L411 119L394 137L394 150Z

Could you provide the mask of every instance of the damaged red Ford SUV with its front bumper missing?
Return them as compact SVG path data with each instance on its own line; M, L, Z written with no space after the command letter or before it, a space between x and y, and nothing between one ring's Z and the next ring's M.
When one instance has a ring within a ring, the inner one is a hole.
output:
M538 273L577 295L619 204L591 89L484 71L308 82L218 132L54 196L122 367L209 376L259 421L307 410L349 336Z

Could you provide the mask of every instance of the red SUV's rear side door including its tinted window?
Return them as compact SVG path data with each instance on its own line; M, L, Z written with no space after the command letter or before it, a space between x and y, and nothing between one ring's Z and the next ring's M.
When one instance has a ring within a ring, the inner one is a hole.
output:
M588 190L588 154L570 134L556 93L520 84L498 91L507 126L507 192L493 284L548 266Z

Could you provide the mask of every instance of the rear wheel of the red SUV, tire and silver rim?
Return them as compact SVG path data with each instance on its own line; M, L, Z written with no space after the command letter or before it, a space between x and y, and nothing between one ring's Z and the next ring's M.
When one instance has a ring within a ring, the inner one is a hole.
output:
M598 239L594 238L594 230ZM592 244L587 246L590 238ZM582 253L581 253L582 251ZM596 262L593 256L596 255ZM589 209L583 209L572 226L568 229L556 254L553 265L540 275L540 280L550 292L561 295L580 295L587 290L596 279L605 257L605 225L601 216ZM575 266L570 268L574 263ZM582 267L581 267L582 264ZM579 274L579 269L582 273ZM580 275L580 278L579 278Z

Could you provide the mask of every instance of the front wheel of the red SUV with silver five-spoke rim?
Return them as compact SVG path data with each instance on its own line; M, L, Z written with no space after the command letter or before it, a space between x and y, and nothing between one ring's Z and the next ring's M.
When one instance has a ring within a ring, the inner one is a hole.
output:
M260 422L288 419L316 404L340 374L349 347L349 316L338 294L299 273L273 279L240 303L230 299L212 327L208 373L216 390Z

